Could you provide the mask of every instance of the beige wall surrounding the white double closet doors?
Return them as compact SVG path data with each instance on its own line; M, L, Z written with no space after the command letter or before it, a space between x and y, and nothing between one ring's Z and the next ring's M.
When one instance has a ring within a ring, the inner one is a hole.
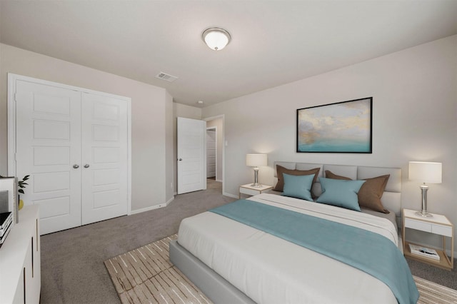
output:
M172 100L164 88L5 44L0 44L0 54L0 174L7 172L7 73L14 73L130 97L132 211L152 208L169 199L164 176L173 176L170 162L166 162L166 153L171 151L166 136L171 130Z

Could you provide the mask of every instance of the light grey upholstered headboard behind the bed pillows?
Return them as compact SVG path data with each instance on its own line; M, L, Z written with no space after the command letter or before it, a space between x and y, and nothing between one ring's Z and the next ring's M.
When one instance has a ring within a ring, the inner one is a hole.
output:
M283 166L291 170L310 170L313 168L321 168L318 177L325 177L325 171L331 171L338 176L346 176L353 180L374 178L390 174L386 189L381 198L383 206L394 212L397 217L397 222L401 218L401 168L383 168L383 167L366 167L366 166L346 166L346 165L326 165L321 163L291 163L287 161L274 162L274 183L278 182L276 165ZM321 184L317 181L313 183L313 193L319 196Z

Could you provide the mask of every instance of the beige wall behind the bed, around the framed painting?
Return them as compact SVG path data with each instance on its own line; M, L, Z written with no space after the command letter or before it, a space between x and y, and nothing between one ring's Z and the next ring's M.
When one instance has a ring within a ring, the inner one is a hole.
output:
M373 153L296 153L296 109L373 96ZM403 208L419 209L419 184L408 161L443 163L443 183L431 184L428 209L457 226L457 36L203 109L224 114L228 146L224 186L236 196L252 180L246 153L268 153L259 180L272 185L273 161L388 166L403 170ZM419 235L432 242L433 235ZM457 242L456 247L457 248Z

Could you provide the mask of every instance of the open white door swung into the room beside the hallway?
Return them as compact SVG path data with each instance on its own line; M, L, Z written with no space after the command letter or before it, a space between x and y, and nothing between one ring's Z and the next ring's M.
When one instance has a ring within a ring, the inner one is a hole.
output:
M206 189L206 121L178 117L178 194Z

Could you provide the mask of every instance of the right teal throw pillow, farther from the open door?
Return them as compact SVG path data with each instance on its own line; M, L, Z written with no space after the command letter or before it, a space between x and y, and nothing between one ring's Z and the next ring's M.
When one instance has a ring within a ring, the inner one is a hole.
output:
M357 193L365 181L332 178L319 178L319 181L321 181L322 194L316 202L360 211Z

